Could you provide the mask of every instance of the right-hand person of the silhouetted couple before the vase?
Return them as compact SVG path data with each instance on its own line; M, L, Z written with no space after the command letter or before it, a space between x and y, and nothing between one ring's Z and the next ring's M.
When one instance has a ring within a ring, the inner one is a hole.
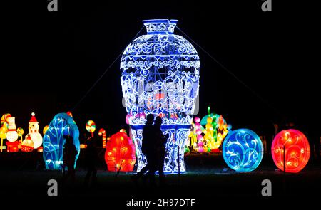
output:
M164 176L164 161L165 161L165 144L166 144L166 136L163 135L161 130L162 118L156 117L154 128L155 128L155 140L156 140L156 170L158 170L159 181L160 184L165 184L165 176Z

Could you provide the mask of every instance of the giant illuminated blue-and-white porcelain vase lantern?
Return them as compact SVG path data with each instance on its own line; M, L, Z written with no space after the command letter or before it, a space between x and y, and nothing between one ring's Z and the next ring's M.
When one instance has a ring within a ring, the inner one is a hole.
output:
M185 172L183 155L198 97L200 59L185 38L174 34L177 22L143 21L147 34L133 40L121 57L123 103L136 145L138 171L146 165L142 130L151 113L163 118L161 129L168 134L165 174Z

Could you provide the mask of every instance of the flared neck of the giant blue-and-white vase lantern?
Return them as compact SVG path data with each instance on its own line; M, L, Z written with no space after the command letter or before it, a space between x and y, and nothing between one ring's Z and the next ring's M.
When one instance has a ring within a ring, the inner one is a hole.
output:
M147 34L173 34L178 20L153 19L144 20Z

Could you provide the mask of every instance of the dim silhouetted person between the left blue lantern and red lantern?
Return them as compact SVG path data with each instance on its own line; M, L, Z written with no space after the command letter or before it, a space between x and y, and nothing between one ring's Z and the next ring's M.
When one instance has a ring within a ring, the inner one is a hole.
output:
M89 186L89 179L91 178L91 184L96 185L97 182L97 169L96 169L96 162L98 160L98 153L96 149L96 140L92 137L88 138L86 152L85 152L85 159L86 159L86 167L87 167L87 174L85 177L85 186Z

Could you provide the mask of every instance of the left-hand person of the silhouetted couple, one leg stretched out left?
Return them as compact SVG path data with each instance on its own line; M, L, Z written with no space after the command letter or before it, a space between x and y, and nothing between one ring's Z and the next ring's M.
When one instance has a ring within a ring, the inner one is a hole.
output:
M146 116L146 120L146 124L143 127L143 140L141 150L146 156L147 164L141 169L140 172L133 175L131 179L133 179L134 182L137 182L138 179L148 171L148 177L150 177L150 182L151 184L153 184L155 180L154 173L156 169L155 132L153 127L154 116L152 114L148 114Z

